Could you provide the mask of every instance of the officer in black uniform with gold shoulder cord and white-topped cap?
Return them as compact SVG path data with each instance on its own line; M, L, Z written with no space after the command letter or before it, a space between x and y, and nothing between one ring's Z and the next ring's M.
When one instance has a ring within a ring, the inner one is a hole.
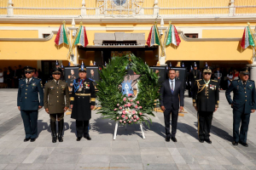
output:
M218 81L211 80L212 68L203 69L203 79L196 80L193 89L193 106L198 111L198 137L203 143L212 144L210 130L213 112L218 109Z

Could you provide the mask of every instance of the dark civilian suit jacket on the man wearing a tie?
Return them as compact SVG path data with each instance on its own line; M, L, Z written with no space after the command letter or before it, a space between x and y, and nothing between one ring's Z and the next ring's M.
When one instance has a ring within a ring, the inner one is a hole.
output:
M175 88L172 94L169 78L162 83L160 88L160 106L165 106L166 109L179 109L179 105L184 105L184 90L183 82L175 81Z

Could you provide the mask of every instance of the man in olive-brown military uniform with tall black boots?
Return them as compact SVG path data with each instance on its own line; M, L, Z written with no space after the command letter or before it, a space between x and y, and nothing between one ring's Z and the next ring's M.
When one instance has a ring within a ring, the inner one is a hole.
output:
M58 139L63 142L64 112L69 107L69 92L67 82L61 81L61 68L55 67L52 72L52 81L44 86L44 109L49 114L52 142L55 143L56 121L58 121ZM65 105L66 99L66 105Z

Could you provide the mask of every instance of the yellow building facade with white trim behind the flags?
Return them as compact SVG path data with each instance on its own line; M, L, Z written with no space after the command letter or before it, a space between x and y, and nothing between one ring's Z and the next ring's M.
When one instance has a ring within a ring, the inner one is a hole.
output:
M253 66L255 49L240 43L247 22L254 35L255 11L253 0L2 0L0 68L32 65L47 72L55 60L67 65L68 47L54 42L64 20L70 42L81 22L89 40L86 48L73 48L74 64L104 65L113 55L133 53L148 65ZM163 41L169 21L181 43L161 56L160 47L146 41L155 22Z

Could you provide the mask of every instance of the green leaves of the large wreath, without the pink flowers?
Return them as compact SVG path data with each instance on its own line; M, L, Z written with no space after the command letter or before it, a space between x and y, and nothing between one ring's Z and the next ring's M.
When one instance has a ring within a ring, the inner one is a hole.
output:
M96 87L99 89L97 99L101 102L102 108L97 113L102 114L104 118L119 121L117 119L119 115L114 109L118 108L117 104L125 105L123 99L126 96L122 94L120 84L124 81L127 65L131 65L131 70L136 72L137 75L141 75L138 81L139 93L136 101L139 101L139 105L143 107L143 115L139 117L140 121L138 123L145 122L148 125L148 121L151 122L151 119L145 114L154 116L153 110L156 99L160 97L158 93L160 85L158 76L154 71L144 64L143 59L137 58L133 54L113 57L106 68L103 68L100 72L102 81L97 82Z

